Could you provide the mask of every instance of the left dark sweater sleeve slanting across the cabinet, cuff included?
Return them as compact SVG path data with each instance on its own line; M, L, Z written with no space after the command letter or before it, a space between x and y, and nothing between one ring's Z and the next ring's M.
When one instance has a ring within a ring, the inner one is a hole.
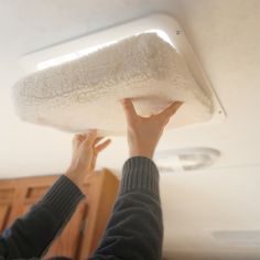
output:
M61 176L28 214L0 236L0 259L40 258L62 231L84 197L66 176Z

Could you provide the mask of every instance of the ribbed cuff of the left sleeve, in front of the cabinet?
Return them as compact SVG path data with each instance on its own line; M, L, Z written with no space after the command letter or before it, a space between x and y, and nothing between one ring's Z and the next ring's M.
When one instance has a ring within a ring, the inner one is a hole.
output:
M62 217L71 216L78 203L84 198L82 191L65 175L62 175L42 198Z

